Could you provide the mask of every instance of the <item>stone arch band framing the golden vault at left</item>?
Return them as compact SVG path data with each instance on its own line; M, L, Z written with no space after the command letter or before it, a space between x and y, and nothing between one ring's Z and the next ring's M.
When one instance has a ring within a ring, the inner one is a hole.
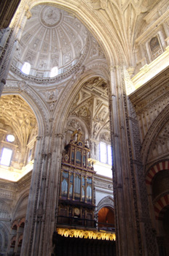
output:
M47 110L47 106L44 105L44 102L42 99L39 97L39 94L36 94L36 91L33 89L29 88L28 90L20 91L20 89L12 89L10 88L10 85L7 84L4 86L4 91L2 95L7 95L7 94L15 94L20 96L25 102L29 105L31 110L34 112L34 115L36 117L36 121L38 124L38 130L39 130L39 135L44 135L45 132L49 129L48 123L49 123L49 118L50 114L49 111Z

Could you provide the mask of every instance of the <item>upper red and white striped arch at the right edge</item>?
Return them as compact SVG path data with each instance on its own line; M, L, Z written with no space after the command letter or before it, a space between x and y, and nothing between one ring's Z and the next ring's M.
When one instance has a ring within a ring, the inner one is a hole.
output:
M163 161L154 165L146 175L146 184L152 184L152 179L160 170L169 170L169 161Z

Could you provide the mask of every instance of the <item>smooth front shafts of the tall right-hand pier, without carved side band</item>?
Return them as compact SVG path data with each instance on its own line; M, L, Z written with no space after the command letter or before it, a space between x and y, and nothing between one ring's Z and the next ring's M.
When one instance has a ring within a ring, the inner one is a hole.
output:
M135 230L135 211L133 208L133 186L130 176L130 154L125 124L125 104L122 88L121 67L111 67L111 130L114 165L114 206L116 214L117 255L140 255L138 236Z

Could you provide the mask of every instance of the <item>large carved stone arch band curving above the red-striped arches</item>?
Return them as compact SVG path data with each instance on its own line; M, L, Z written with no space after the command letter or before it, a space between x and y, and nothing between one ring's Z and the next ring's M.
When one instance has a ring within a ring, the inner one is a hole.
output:
M154 139L157 137L162 127L164 127L168 121L169 105L164 110L162 110L159 116L157 116L157 118L154 120L152 126L150 127L149 131L146 134L141 151L144 167L146 165L146 160L148 159L149 156L149 150L152 146Z

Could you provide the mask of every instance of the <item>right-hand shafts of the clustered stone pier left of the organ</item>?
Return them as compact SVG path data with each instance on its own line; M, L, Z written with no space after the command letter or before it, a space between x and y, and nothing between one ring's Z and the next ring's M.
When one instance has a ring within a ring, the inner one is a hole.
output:
M61 148L63 143L63 135L55 135L54 141L52 137L50 139L51 157L50 164L48 165L48 181L45 195L46 204L44 214L44 230L41 238L42 245L40 246L39 256L51 255L52 252L52 236L56 225L56 208L58 207L60 187L60 167L62 159Z

